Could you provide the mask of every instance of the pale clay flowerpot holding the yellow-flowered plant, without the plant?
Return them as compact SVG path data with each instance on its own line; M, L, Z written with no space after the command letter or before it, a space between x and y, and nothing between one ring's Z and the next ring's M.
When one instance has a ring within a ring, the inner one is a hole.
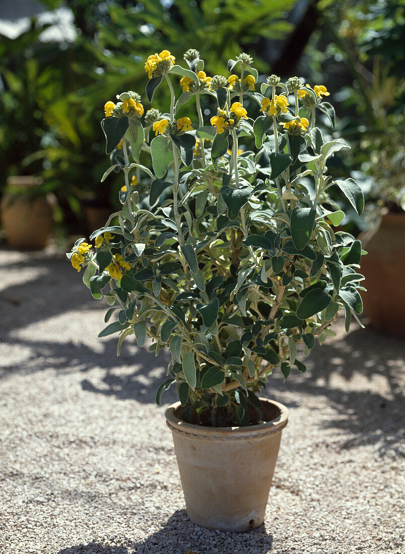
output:
M248 531L263 523L288 409L261 401L266 423L249 427L192 425L180 419L180 402L167 408L187 515L195 524Z

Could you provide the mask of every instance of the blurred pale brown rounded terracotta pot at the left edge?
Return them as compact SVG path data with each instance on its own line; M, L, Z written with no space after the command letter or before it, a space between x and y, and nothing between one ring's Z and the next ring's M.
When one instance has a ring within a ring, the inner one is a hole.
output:
M42 249L47 245L53 225L53 196L18 193L18 189L35 187L39 182L31 176L7 179L10 190L2 198L0 215L7 243L13 248Z

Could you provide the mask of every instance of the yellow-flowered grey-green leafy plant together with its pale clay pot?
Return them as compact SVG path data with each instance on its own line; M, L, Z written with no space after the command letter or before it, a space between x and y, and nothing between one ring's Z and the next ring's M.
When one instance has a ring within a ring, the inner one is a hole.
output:
M179 402L166 418L189 517L243 531L263 522L288 418L260 392L275 370L285 378L292 367L305 371L298 345L307 356L316 338L334 336L339 310L346 329L362 311L361 245L334 232L344 213L329 189L339 187L358 213L363 195L352 179L327 176L328 159L348 145L324 141L316 126L322 114L334 124L324 86L271 75L258 92L249 55L229 60L228 78L207 76L197 50L184 59L186 68L163 50L146 61L147 99L166 83L169 114L148 110L142 125L132 91L105 105L107 154L122 140L122 155L103 179L124 173L122 209L91 235L94 244L80 239L68 257L111 306L100 337L119 334L118 353L134 334L156 355L170 351L156 402L176 387ZM209 122L201 95L216 103ZM191 100L195 108L178 117ZM252 113L257 102L255 120L247 102ZM141 149L150 164L131 162ZM131 186L136 171L145 198Z

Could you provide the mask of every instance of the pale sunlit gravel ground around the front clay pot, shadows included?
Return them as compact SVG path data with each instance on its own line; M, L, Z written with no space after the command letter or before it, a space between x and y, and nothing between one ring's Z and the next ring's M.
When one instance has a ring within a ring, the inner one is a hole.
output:
M353 326L304 375L275 375L290 409L264 525L187 519L153 402L167 357L98 339L104 304L50 251L0 250L2 554L404 552L404 341Z

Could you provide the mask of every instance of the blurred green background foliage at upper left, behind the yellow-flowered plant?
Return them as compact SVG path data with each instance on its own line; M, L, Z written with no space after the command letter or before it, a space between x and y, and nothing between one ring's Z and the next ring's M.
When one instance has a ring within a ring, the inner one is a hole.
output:
M50 10L61 5L42 3ZM105 99L121 89L143 91L143 60L163 45L180 58L189 43L202 55L216 52L207 56L207 71L218 72L231 52L254 50L260 37L283 38L295 3L67 0L77 33L73 43L41 42L48 25L34 19L16 39L0 35L0 189L9 175L40 176L42 192L58 197L59 217L73 223L88 199L114 206L119 184L99 183L106 168L98 124ZM263 60L258 68L268 70Z

